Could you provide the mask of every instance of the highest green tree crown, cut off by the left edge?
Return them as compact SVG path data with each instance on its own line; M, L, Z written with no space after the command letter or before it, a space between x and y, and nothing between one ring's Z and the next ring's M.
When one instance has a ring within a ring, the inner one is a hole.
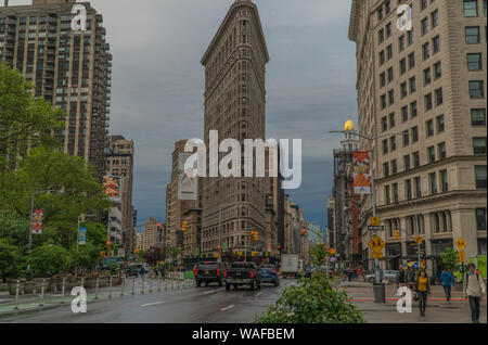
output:
M26 82L18 71L0 63L0 170L7 168L5 156L25 156L29 146L59 145L51 136L64 126L66 114L52 108L43 98L33 97L34 85ZM15 167L15 162L10 162Z

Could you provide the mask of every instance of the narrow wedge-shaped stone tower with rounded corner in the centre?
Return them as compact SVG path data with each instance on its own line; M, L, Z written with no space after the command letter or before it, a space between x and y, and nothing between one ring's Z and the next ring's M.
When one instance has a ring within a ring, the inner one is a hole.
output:
M202 59L207 148L210 130L218 130L219 140L239 140L242 148L245 139L265 140L268 61L257 7L251 0L236 0ZM216 165L209 162L210 167ZM264 178L206 177L202 205L202 253L216 253L223 243L232 251L266 250L262 237L258 241L251 237L252 230L260 234L266 230Z

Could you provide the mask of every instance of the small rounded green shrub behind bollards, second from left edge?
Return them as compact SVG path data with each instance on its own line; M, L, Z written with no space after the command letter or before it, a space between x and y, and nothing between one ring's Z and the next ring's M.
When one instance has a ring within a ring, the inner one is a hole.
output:
M53 243L44 243L33 250L27 257L30 271L35 277L48 277L66 269L68 252Z

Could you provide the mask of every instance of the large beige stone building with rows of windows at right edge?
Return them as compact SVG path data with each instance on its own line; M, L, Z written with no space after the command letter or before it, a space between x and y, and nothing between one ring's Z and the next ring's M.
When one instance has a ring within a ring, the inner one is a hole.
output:
M397 29L399 4L412 9L411 31ZM415 260L416 235L431 272L460 238L467 258L486 254L486 1L354 0L349 39L357 44L359 132L374 138L382 267ZM360 203L372 268L371 197Z

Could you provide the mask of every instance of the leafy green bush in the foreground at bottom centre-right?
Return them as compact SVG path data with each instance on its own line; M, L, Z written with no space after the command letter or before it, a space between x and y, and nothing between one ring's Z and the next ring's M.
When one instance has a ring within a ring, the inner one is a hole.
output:
M283 290L258 323L364 323L361 311L345 291L322 271Z

